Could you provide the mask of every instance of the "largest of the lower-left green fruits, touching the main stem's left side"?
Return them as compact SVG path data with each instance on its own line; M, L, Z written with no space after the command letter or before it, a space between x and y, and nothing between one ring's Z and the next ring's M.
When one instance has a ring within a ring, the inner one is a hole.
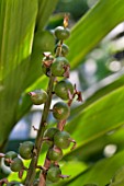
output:
M30 160L32 158L33 149L34 149L34 142L25 141L20 144L19 153L24 160Z

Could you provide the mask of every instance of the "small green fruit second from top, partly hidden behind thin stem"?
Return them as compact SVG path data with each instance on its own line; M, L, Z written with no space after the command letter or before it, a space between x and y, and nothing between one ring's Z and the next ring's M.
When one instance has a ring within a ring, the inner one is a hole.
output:
M55 53L56 55L58 55L58 50L59 50L59 44L56 45L55 47ZM61 56L67 56L69 53L69 47L66 44L61 45Z

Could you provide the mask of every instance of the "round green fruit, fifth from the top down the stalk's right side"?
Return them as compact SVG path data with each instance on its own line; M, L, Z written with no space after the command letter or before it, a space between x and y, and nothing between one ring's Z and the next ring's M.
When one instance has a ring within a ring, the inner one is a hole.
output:
M64 102L57 102L53 107L53 115L56 119L67 119L70 114L69 106Z

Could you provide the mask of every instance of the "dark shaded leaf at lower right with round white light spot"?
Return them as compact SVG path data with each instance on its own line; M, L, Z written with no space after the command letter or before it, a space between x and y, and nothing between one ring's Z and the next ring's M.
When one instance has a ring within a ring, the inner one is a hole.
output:
M77 148L74 151L65 154L64 160L69 161L77 158L79 161L97 162L103 156L111 156L113 153L117 153L119 151L123 150L123 144L124 128L122 126L111 132L95 138L92 141L89 141L86 144L77 144ZM109 146L113 147L114 151L106 153L104 150Z

